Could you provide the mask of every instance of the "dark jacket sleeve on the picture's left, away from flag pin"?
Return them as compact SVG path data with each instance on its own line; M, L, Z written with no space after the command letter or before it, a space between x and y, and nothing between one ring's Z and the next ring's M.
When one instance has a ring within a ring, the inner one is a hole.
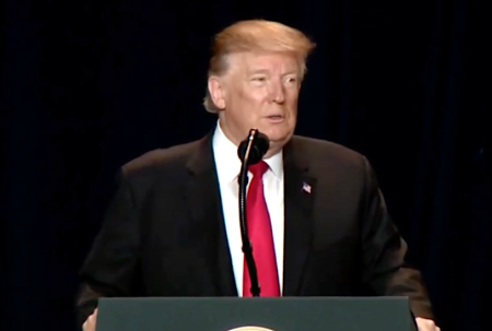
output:
M79 327L97 307L99 297L134 295L140 226L124 169L119 173L118 182L102 228L80 272L81 287L75 300Z

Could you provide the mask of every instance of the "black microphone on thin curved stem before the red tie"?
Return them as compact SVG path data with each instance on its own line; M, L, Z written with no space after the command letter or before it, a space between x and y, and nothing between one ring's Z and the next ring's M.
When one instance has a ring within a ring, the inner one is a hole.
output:
M239 144L237 156L243 163L239 173L239 222L241 237L243 239L243 252L248 268L249 277L251 280L251 295L259 296L260 287L258 284L258 273L256 270L255 259L253 257L251 244L249 243L247 223L246 223L246 187L248 182L248 166L261 161L267 153L270 142L267 135L257 129L249 130L248 137Z

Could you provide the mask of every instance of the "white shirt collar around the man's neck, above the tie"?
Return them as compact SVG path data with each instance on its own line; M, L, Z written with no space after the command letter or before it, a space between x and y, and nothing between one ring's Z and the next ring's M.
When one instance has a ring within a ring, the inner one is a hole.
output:
M212 143L215 165L221 176L227 181L237 179L241 172L241 159L237 156L237 146L224 134L219 120L213 133ZM282 150L271 157L263 158L263 161L268 164L276 178L280 180L283 176Z

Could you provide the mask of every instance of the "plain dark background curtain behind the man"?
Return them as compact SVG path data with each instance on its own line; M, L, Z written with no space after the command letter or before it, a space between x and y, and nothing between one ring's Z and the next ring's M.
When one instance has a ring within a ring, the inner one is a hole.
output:
M368 157L443 330L487 330L485 2L2 1L0 330L74 330L117 168L210 130L211 37L253 17L317 43L297 133Z

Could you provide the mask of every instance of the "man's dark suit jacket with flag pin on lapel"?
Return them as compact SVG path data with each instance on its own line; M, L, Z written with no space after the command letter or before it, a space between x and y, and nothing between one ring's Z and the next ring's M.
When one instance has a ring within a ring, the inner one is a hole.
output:
M82 268L80 322L99 296L237 295L211 141L152 151L121 168ZM432 318L364 156L293 137L284 182L284 296L402 295L415 316Z

